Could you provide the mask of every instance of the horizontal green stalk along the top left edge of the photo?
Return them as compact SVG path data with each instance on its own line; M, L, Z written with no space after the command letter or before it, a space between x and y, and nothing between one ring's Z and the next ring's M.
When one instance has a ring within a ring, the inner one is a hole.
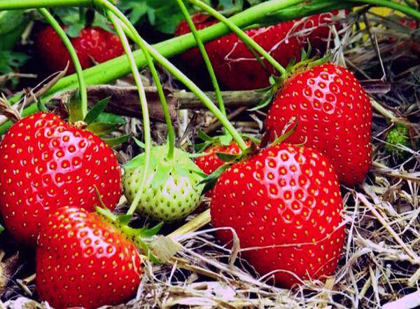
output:
M27 8L58 8L62 6L92 6L92 0L13 0L0 1L0 11Z

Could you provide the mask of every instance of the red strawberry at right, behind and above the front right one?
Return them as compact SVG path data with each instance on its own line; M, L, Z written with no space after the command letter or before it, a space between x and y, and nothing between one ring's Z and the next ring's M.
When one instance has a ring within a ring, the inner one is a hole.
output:
M293 116L299 123L287 142L305 143L328 156L342 184L363 180L371 164L372 108L350 71L323 64L286 81L267 116L272 139Z

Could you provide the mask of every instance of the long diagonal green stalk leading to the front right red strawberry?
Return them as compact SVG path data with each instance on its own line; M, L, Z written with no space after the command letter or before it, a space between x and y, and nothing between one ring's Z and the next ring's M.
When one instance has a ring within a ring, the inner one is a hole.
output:
M134 26L130 23L130 21L125 17L123 13L118 11L118 8L110 4L106 0L96 0L97 3L102 4L106 7L106 9L112 11L118 18L120 18L121 21L123 21L127 34L132 38L134 42L136 42L140 48L148 50L148 53L157 61L159 62L162 67L165 67L172 75L174 75L176 78L179 79L184 85L186 85L197 97L199 97L204 105L218 118L218 121L222 123L222 125L230 132L233 139L235 139L235 142L237 142L238 146L245 150L248 148L246 146L246 143L244 142L244 139L241 138L235 127L228 121L228 118L226 118L221 111L216 107L216 105L211 101L209 97L197 86L193 81L190 80L185 74L183 74L179 69L177 69L174 64L169 62L165 57L160 55L156 50L154 50L144 39L141 38L139 35L139 32L137 32L137 29L134 28ZM148 55L146 54L146 57ZM139 191L140 192L140 191ZM134 203L134 202L133 202Z

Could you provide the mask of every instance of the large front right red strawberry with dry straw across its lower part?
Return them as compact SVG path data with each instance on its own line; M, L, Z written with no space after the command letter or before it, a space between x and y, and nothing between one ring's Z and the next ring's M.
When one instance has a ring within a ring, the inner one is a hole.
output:
M331 275L344 242L337 175L317 151L280 144L232 165L211 199L216 228L235 229L244 257L276 284ZM223 243L232 232L219 230ZM248 248L248 249L247 249Z

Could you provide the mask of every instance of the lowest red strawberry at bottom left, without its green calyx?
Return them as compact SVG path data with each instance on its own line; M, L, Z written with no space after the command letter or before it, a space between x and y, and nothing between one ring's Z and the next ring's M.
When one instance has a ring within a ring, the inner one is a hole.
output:
M53 308L117 305L136 294L141 259L99 214L61 207L45 219L36 248L36 291Z

